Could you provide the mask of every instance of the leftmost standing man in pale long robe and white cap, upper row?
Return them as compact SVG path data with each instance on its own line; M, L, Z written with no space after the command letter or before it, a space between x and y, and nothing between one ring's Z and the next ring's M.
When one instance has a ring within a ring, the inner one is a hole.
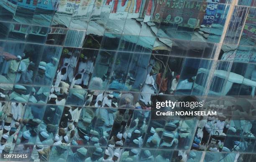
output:
M8 78L8 80L10 80L11 83L14 83L14 81L15 81L15 77L16 77L16 73L18 71L20 60L21 60L21 57L17 56L17 59L10 61L7 78Z

